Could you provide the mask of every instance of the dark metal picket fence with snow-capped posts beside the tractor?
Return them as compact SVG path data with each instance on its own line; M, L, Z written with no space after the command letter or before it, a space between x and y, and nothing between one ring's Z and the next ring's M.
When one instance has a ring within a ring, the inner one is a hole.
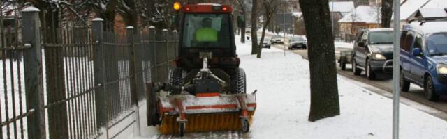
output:
M23 10L23 26L14 29L24 33L9 33L23 44L1 43L0 138L123 138L140 131L145 83L168 79L177 32L129 26L114 33L102 19L52 28L41 26L38 13ZM2 40L10 38L0 27Z

